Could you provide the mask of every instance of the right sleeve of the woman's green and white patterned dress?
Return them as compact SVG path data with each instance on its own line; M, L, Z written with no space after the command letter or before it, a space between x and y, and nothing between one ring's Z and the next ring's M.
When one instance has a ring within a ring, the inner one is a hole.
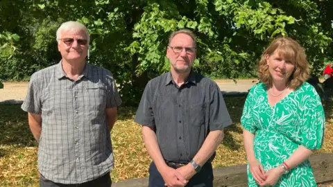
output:
M300 143L309 150L317 150L323 145L325 113L321 98L316 91L307 99L300 124Z

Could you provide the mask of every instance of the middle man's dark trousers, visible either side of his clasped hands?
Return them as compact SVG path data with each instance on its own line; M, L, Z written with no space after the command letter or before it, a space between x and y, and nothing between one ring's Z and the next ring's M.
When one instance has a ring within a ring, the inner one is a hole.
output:
M186 187L212 187L213 186L213 168L212 163L205 163L200 172L196 173ZM160 172L158 172L155 163L151 163L149 168L149 186L148 187L164 187L164 180Z

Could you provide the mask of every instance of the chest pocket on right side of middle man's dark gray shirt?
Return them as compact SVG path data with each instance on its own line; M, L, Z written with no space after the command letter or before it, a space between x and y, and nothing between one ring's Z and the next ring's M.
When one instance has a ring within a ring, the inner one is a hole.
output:
M191 103L189 109L189 123L193 126L205 124L207 103Z

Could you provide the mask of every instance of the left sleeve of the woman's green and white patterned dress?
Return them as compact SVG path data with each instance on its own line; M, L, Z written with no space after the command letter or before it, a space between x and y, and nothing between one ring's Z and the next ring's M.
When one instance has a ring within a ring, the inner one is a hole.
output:
M254 88L250 89L243 108L243 114L241 115L241 126L244 130L255 134L257 127L253 121L253 100L254 100Z

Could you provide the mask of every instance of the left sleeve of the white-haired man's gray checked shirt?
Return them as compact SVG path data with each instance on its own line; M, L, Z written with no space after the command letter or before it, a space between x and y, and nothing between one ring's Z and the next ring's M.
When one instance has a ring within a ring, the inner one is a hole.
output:
M25 112L33 114L42 113L42 102L40 98L40 84L37 82L38 75L34 73L31 75L31 80L28 85L28 93L21 106Z

